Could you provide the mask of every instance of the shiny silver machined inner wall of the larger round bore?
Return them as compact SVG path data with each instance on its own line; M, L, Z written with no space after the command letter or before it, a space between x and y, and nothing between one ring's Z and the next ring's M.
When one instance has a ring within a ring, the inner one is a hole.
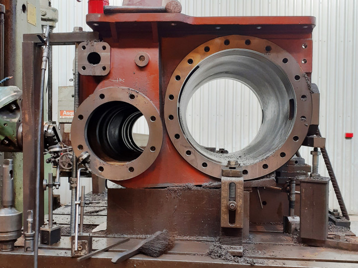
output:
M181 89L178 109L182 132L200 154L218 163L240 159L240 164L247 166L262 161L282 146L294 123L288 119L289 102L294 99L294 91L280 67L262 54L241 49L217 52L198 66ZM246 84L257 95L263 109L263 124L254 140L242 150L228 154L215 153L200 146L186 124L186 108L191 96L202 84L218 78L231 78Z

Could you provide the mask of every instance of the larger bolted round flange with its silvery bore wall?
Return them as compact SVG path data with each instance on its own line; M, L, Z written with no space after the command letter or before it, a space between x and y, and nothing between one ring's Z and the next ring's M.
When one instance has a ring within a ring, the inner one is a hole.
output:
M186 124L192 94L219 78L248 85L263 108L263 124L254 140L228 154L203 148ZM304 72L289 53L268 40L231 35L200 45L179 63L168 84L164 115L173 144L193 167L221 178L227 161L237 160L244 180L251 180L275 171L299 149L311 122L312 96Z

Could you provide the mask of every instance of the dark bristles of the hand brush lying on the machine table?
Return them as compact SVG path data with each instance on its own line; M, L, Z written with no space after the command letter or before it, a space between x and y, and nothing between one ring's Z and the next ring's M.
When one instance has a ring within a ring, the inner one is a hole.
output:
M141 253L150 257L159 257L167 253L174 246L174 236L167 230L154 237L152 240L145 243L141 248Z

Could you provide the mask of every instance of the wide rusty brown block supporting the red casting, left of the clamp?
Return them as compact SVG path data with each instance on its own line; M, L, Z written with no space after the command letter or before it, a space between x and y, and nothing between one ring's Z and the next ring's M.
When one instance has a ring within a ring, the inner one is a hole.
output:
M181 236L217 237L220 189L108 189L108 233L142 235L164 229Z

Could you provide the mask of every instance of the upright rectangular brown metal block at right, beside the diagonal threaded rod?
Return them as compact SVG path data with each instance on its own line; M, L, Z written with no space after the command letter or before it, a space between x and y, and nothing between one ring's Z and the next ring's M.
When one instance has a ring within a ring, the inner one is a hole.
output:
M328 192L330 178L301 180L300 237L326 240L328 236Z

